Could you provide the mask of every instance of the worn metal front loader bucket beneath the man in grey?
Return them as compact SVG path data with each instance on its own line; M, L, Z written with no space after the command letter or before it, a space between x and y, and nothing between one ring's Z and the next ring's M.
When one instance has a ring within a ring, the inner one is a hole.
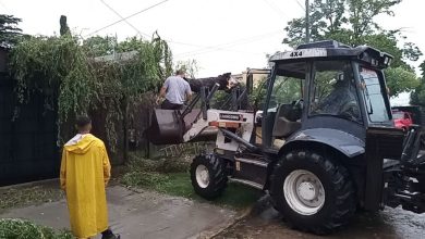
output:
M182 143L184 127L178 111L155 109L147 138L154 144Z

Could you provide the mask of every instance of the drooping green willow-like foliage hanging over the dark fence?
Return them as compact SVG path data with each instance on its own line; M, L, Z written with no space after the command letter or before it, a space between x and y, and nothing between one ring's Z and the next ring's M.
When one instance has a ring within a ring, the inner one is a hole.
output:
M113 54L96 58L108 53ZM19 102L41 92L45 109L58 112L59 126L77 114L104 109L112 150L119 135L114 122L125 124L129 106L157 90L172 71L171 51L157 34L150 41L134 37L121 42L102 37L81 41L71 34L28 37L12 50L11 70Z

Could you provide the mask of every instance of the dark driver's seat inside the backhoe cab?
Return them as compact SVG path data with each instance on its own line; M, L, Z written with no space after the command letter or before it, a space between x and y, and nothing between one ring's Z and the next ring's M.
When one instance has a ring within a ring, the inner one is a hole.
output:
M301 128L300 122L289 121L287 115L290 115L292 111L292 104L281 104L276 114L272 137L287 138L294 131Z

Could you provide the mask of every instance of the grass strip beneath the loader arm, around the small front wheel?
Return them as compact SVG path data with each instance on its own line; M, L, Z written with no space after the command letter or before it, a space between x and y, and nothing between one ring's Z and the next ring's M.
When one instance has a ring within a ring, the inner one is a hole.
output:
M170 196L206 202L193 190L189 173L157 173L157 172L131 172L122 177L125 186L150 189ZM214 204L244 209L253 204L260 196L256 189L243 185L229 184L223 194L214 201Z

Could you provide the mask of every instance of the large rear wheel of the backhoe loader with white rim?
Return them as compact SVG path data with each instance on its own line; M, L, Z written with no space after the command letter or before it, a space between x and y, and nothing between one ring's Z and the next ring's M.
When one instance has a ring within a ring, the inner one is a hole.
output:
M356 202L347 169L304 150L283 155L270 178L275 207L300 230L330 234L348 223Z

